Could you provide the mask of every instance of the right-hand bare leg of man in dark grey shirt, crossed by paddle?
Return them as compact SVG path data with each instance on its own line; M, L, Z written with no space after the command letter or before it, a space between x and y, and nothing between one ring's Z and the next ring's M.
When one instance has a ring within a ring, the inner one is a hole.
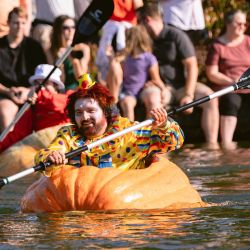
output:
M195 91L195 99L212 94L213 91L202 83L197 83ZM213 99L203 103L201 127L205 134L206 142L209 144L217 144L219 133L219 108L218 100Z

